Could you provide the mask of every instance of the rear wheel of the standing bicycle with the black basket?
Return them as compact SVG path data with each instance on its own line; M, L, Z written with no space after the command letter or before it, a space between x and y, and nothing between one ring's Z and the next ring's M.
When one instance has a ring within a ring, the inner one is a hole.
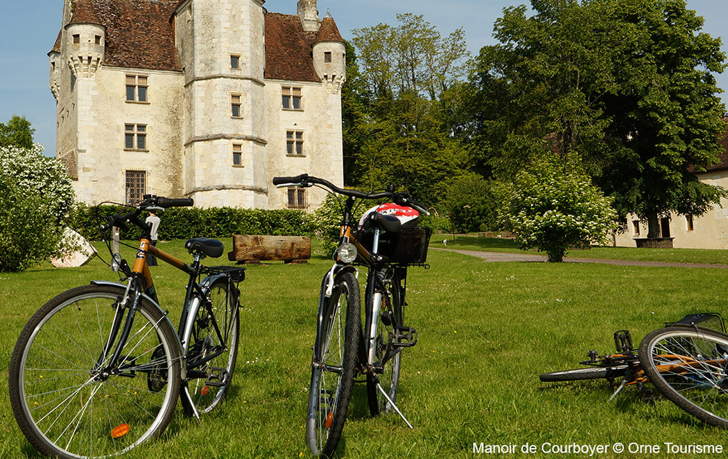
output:
M377 336L374 346L376 346L375 356L376 359L380 360L384 357L387 350L387 343L394 336L395 327L402 325L403 311L400 306L400 300L396 290L400 288L399 281L395 276L392 279L392 292L382 292L381 305L379 308L379 326L377 327ZM372 286L373 287L373 286ZM365 301L368 305L368 311L372 311L372 304L374 300L373 288L367 288L367 295ZM387 324L389 322L389 324ZM397 400L397 390L400 385L400 368L402 364L402 352L397 352L389 361L384 364L382 372L377 375L377 379L381 383L381 388L387 393L389 399L392 402ZM376 380L372 375L367 375L366 378L367 387L367 400L369 404L369 412L372 416L377 416L385 412L392 410L392 404L387 402L387 399L381 394L379 389L376 387Z

